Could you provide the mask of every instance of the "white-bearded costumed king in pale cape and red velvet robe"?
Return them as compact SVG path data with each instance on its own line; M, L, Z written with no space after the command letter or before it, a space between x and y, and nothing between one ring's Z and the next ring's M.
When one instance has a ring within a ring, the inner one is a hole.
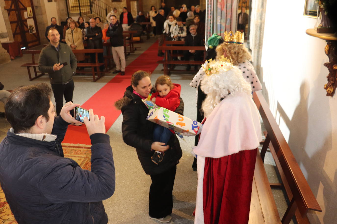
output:
M257 147L262 140L258 110L250 85L231 62L211 61L204 70L205 119L193 149L198 158L194 223L248 223Z

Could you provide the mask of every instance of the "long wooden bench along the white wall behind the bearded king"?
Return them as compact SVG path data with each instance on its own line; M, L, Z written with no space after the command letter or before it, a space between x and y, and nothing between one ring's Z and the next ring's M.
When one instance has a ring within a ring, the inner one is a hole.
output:
M257 151L250 204L249 224L288 224L295 216L297 223L310 223L309 210L321 212L315 196L306 181L296 159L285 141L261 91L253 93L253 100L267 130L261 154ZM267 149L273 155L282 183L269 183L264 169ZM284 187L290 201L280 219L271 187Z

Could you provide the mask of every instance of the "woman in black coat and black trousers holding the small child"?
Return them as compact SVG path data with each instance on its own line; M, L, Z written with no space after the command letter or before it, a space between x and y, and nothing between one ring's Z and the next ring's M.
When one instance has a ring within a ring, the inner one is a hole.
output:
M172 217L172 190L176 176L177 164L182 156L178 138L172 135L165 143L153 141L154 123L146 120L149 109L143 103L150 93L155 92L150 75L137 71L131 77L131 85L126 88L124 97L115 103L122 110L123 140L136 148L138 159L146 174L151 176L149 218L159 222L170 222ZM184 103L175 112L183 114ZM164 152L160 163L151 160L155 151Z

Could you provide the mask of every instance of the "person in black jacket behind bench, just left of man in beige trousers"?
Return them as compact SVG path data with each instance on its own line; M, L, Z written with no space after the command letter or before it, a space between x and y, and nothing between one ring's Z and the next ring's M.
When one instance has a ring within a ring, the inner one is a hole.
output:
M87 28L86 37L87 39L87 49L103 49L102 42L102 29L96 26L96 20L91 18L89 20L90 27ZM95 54L90 54L91 63L96 63ZM103 63L103 53L98 53L98 62ZM95 68L96 69L96 68ZM103 72L104 65L99 66L99 70Z

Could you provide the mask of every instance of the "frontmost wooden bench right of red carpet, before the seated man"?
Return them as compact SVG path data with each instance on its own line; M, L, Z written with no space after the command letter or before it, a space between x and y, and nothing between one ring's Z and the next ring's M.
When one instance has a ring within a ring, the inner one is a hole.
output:
M172 50L201 50L204 51L204 59L205 59L205 46L159 46L158 47L159 50L164 50L165 51L165 56L164 56L164 60L159 60L157 61L158 64L163 64L164 66L164 75L169 76L171 74L172 71L180 71L180 72L188 72L187 70L175 70L174 68L172 68L170 66L170 68L168 68L169 64L195 64L195 65L201 65L205 63L205 60L202 61L184 61L184 60L168 60L168 55L169 55L169 51Z

